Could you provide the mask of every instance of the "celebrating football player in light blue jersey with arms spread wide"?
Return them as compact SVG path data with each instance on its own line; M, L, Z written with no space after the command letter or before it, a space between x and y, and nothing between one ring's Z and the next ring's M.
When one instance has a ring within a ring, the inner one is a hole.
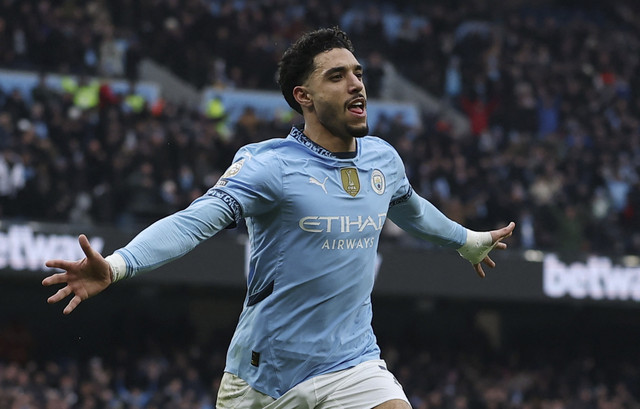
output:
M241 148L218 183L187 209L143 230L106 259L85 236L83 260L52 260L73 311L107 286L176 259L244 218L251 244L247 296L218 408L410 408L380 359L371 291L380 231L408 232L481 262L514 224L473 232L415 194L396 151L366 136L362 67L337 28L304 35L282 57L279 83L304 117L285 139Z

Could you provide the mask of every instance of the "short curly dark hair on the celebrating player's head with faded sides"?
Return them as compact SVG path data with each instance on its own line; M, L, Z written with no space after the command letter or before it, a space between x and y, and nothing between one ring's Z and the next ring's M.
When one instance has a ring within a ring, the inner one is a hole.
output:
M282 55L278 64L278 85L284 99L296 112L302 114L302 108L293 97L293 89L302 85L311 75L315 56L333 48L346 48L354 52L347 33L338 27L305 33Z

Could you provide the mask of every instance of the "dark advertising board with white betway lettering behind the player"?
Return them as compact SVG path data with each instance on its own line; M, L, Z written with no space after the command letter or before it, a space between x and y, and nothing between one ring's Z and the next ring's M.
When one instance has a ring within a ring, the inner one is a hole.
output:
M114 228L43 223L0 224L0 279L38 279L51 274L49 259L84 257L78 235L95 250L111 254L134 232ZM529 252L531 254L531 252ZM374 293L380 295L450 297L505 301L626 303L640 306L640 259L614 260L583 255L563 259L556 254L519 250L495 251L494 269L477 277L457 252L441 248L407 248L381 240ZM246 287L246 236L220 232L192 252L123 285L136 283Z

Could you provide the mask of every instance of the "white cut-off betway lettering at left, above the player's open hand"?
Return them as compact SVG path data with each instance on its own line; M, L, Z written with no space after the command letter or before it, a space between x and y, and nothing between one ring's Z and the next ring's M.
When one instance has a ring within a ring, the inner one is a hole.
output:
M101 253L104 239L92 237L91 246ZM64 234L34 234L29 226L14 225L0 232L0 269L47 270L50 259L79 260L84 253L76 236Z

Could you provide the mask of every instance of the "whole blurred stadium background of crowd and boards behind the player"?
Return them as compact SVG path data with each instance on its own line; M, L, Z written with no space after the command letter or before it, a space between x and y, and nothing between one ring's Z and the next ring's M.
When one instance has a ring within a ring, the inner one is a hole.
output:
M485 280L385 226L373 325L413 407L640 408L634 0L0 0L0 408L215 406L244 226L71 316L44 261L79 233L110 254L286 136L278 59L333 25L415 190L517 223Z

